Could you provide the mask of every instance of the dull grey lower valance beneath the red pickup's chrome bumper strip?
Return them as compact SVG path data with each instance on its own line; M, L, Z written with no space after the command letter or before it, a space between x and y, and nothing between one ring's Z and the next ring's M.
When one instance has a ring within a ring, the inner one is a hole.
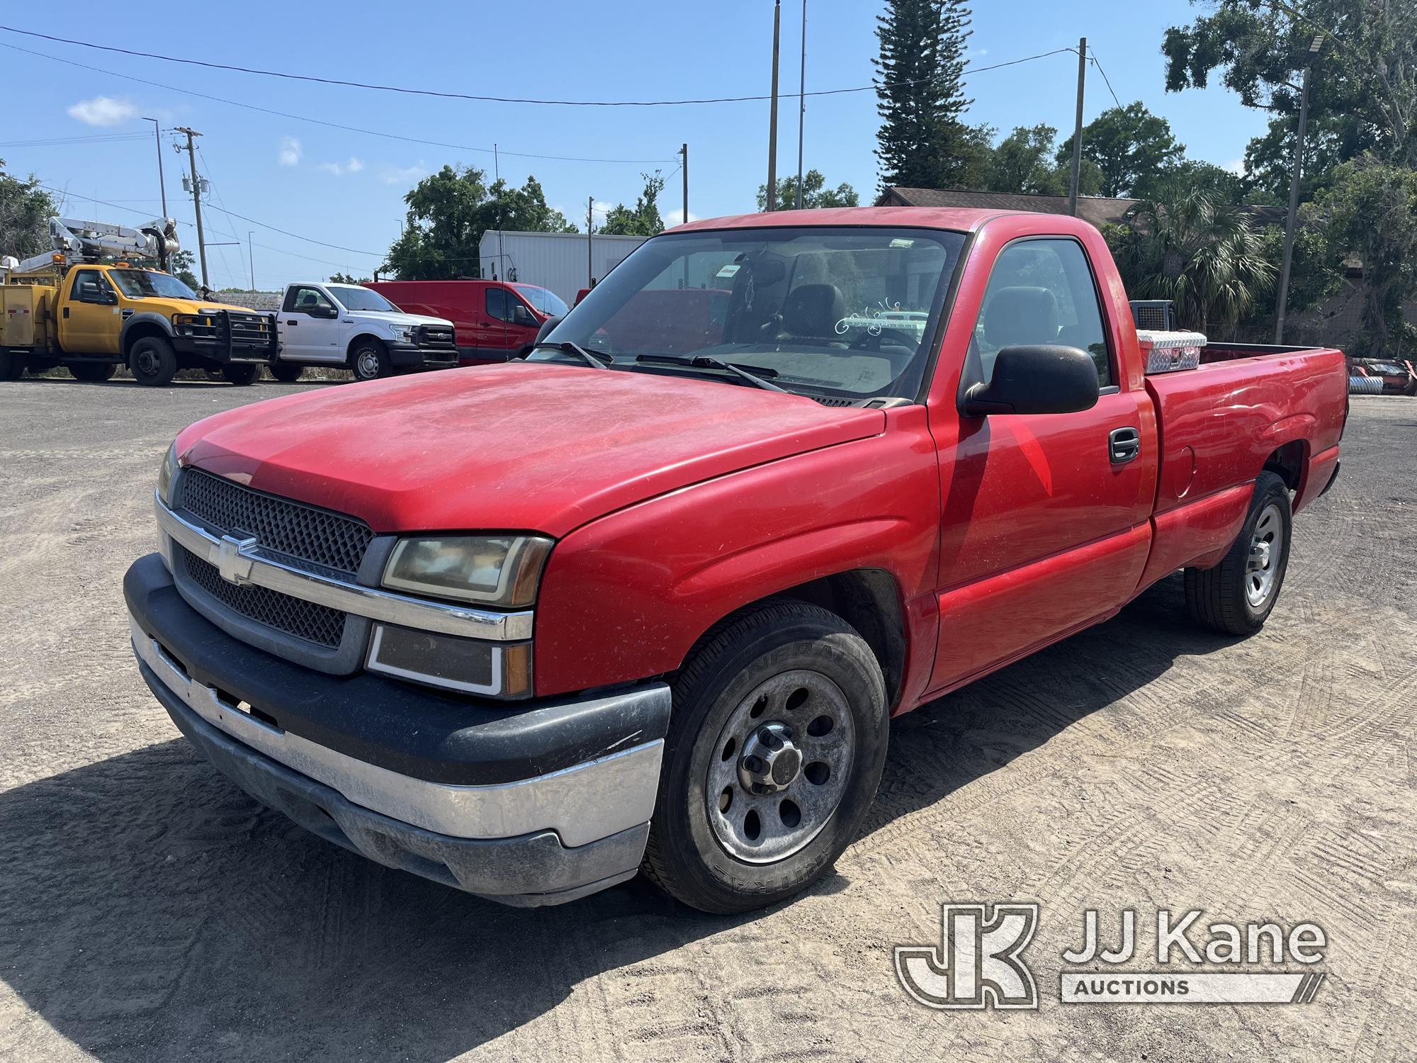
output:
M385 867L519 907L575 900L623 882L639 869L648 823L567 849L554 831L519 838L451 838L371 812L222 734L149 675L147 665L139 668L177 729L232 782L310 833Z

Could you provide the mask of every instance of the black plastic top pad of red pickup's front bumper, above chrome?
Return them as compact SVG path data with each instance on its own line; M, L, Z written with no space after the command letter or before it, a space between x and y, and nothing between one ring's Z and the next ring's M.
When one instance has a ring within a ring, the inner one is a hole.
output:
M360 672L332 676L227 635L188 605L157 554L123 577L128 609L187 673L302 738L401 775L495 785L561 771L669 730L665 697L490 702ZM540 710L540 712L538 712Z

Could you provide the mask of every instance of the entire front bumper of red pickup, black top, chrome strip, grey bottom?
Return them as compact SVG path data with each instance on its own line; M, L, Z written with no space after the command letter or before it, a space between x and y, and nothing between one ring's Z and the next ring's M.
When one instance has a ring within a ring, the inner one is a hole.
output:
M495 900L555 904L635 874L669 689L476 703L327 676L211 625L157 556L123 581L139 670L256 799L370 859Z

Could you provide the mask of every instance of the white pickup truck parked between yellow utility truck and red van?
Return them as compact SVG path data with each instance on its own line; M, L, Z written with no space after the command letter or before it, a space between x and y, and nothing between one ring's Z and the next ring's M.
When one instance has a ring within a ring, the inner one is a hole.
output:
M339 366L356 380L458 364L452 322L404 313L361 285L302 281L285 289L276 316L276 380L299 380L306 366Z

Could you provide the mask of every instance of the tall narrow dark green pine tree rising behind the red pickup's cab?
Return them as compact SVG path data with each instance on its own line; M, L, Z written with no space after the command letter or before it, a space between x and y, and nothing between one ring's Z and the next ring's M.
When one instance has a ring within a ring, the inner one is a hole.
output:
M978 136L964 122L973 101L965 99L961 82L969 9L959 0L890 0L876 21L881 190L964 183L979 162Z

